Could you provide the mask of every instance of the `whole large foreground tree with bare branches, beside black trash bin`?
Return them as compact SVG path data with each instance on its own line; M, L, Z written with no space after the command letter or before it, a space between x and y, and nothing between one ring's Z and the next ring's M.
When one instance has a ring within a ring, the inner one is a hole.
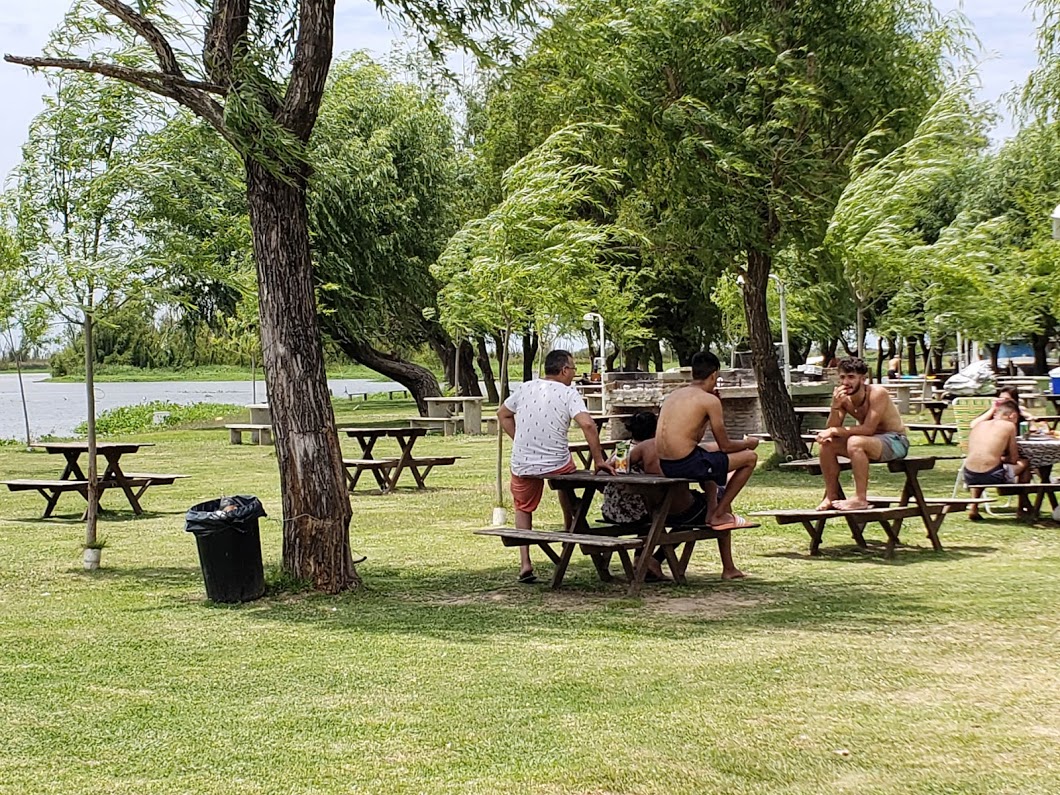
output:
M196 0L190 19L165 13L164 0L82 0L85 31L76 51L42 57L5 55L34 69L71 69L124 81L189 108L240 154L245 166L262 350L276 426L283 500L283 563L321 590L355 587L350 500L314 298L306 187L306 144L331 67L335 0ZM467 34L498 16L520 17L525 4L475 0L457 8L428 0L381 0L430 37L483 46ZM117 25L117 28L116 28ZM130 66L123 53L99 57L91 45L131 31L157 68ZM434 35L434 31L439 31ZM177 46L197 42L194 49Z

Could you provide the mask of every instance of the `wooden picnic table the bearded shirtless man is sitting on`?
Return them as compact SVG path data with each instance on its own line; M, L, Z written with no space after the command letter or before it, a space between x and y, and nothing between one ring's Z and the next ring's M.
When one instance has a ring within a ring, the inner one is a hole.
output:
M755 516L773 516L778 525L801 524L810 535L810 554L819 554L820 541L824 535L825 523L831 518L842 518L850 528L850 533L854 543L860 547L865 547L864 530L869 523L876 522L883 527L887 534L887 545L885 554L894 556L895 547L899 544L899 533L902 523L906 518L919 516L928 531L935 551L941 551L942 544L938 540L938 531L942 526L942 520L948 513L962 511L973 502L983 502L973 497L925 497L920 485L919 474L935 467L934 457L909 456L895 461L880 462L889 472L902 473L905 482L902 492L898 497L869 497L872 508L855 511L844 511L838 509L828 511L816 511L812 509L796 510L775 510L758 511ZM798 470L813 475L820 474L820 459L808 458L801 461L789 461L780 464L782 469ZM840 457L840 469L847 471L850 469L850 460ZM840 498L843 498L843 487L840 487Z

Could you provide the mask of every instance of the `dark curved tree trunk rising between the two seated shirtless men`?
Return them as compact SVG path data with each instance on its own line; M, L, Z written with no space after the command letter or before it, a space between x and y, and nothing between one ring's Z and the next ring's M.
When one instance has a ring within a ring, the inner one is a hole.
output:
M802 441L799 421L792 408L791 395L777 361L773 344L770 315L765 293L770 281L772 260L761 251L747 252L747 278L743 285L744 317L750 337L750 357L758 381L758 403L765 420L765 429L776 443L782 458L807 458L809 450Z

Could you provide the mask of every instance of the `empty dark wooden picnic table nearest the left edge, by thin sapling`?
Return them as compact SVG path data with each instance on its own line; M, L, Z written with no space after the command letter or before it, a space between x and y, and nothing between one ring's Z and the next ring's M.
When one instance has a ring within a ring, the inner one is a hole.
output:
M88 442L42 442L34 444L46 453L54 456L63 456L66 459L66 466L56 480L48 479L15 479L2 481L10 491L35 491L40 494L46 501L45 518L52 515L59 496L65 492L76 492L85 500L88 500L88 478L81 467L81 457L88 455ZM100 475L96 483L96 506L100 497L108 489L121 489L128 500L129 507L136 514L143 513L140 506L140 497L153 485L170 485L177 478L188 477L187 475L174 475L163 473L125 472L121 466L123 456L131 455L140 450L141 447L154 446L149 442L99 442L95 445L95 454L102 456L107 462Z

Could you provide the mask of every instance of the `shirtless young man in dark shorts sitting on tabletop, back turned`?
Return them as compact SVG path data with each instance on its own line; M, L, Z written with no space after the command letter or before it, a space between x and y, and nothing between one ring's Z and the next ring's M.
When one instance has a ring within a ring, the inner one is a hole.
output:
M714 530L732 530L749 524L734 514L731 507L758 463L755 453L758 440L728 438L722 402L713 394L720 367L718 357L708 351L692 356L692 384L671 392L662 401L655 450L667 477L699 480L708 497L718 485L725 487L725 494L708 512L707 524ZM700 444L708 426L718 442L717 452Z

